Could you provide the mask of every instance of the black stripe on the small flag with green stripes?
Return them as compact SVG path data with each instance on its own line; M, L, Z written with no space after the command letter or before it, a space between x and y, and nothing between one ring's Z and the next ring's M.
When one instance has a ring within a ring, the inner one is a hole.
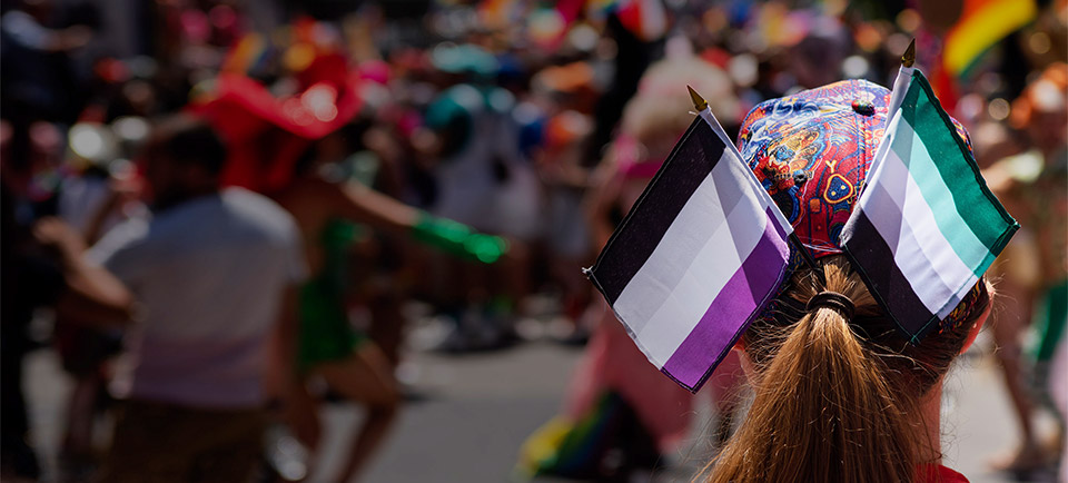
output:
M937 319L934 314L912 290L908 278L893 262L893 250L868 219L868 214L860 211L854 215L852 230L842 233L842 248L868 286L868 292L879 300L898 328L907 338L919 341L938 326L932 324Z

